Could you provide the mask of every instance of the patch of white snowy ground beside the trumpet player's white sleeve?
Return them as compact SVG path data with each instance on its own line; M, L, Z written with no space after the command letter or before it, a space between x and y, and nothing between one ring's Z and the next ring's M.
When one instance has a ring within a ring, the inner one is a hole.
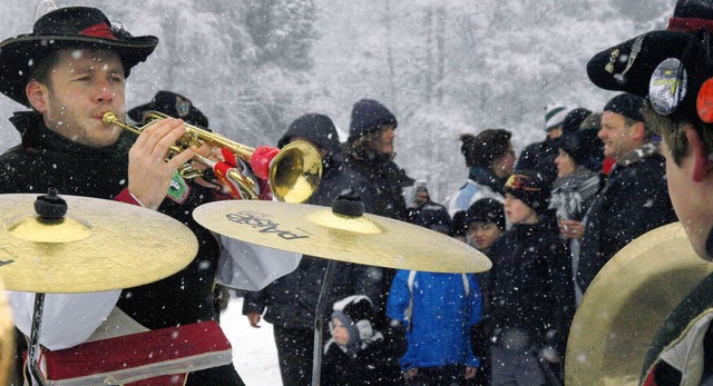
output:
M243 298L231 295L227 309L221 315L221 326L233 345L233 363L247 386L280 386L277 349L272 325L262 320L253 328L242 315Z

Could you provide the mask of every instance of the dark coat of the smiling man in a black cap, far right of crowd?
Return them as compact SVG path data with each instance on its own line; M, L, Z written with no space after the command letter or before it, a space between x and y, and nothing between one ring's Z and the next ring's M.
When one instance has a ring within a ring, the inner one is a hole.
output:
M609 172L585 217L577 271L583 291L633 239L677 221L664 162L656 147L648 143L622 157Z

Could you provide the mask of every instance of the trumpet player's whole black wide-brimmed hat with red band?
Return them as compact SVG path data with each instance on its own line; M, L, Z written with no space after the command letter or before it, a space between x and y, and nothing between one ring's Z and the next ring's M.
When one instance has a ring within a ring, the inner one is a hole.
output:
M123 28L111 26L109 19L96 8L60 8L39 18L32 33L0 42L0 92L29 107L25 87L32 73L32 66L59 49L114 51L128 76L134 66L146 60L156 44L156 37L133 37Z

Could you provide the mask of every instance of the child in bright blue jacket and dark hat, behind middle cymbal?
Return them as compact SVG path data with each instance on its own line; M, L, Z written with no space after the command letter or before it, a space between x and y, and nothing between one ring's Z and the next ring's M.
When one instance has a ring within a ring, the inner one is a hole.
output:
M417 225L450 227L441 205L429 202L419 216ZM399 270L389 293L387 316L406 327L408 348L401 369L407 385L462 385L475 377L479 360L470 346L470 331L482 318L475 274Z

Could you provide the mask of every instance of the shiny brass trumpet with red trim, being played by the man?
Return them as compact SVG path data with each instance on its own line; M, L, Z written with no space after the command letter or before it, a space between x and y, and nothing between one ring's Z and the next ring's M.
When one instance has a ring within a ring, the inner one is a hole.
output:
M137 127L121 121L114 112L107 111L101 117L101 122L140 135L149 125L166 118L169 117L157 111L147 111L144 116L145 125ZM241 162L235 162L236 165L227 170L216 169L218 162L201 155L195 155L193 161L215 170L219 179L226 180L238 190L234 196L240 198L257 199L260 195L260 187L255 179L248 176L251 172L247 166L257 177L268 180L273 196L285 202L306 201L322 179L322 158L318 149L309 142L294 141L277 151L277 148L265 146L252 148L193 125L186 123L186 133L170 147L172 152L178 154L192 146L201 147L203 143L223 148L223 151L228 150ZM202 170L194 169L189 164L182 166L178 172L186 179L203 176Z

